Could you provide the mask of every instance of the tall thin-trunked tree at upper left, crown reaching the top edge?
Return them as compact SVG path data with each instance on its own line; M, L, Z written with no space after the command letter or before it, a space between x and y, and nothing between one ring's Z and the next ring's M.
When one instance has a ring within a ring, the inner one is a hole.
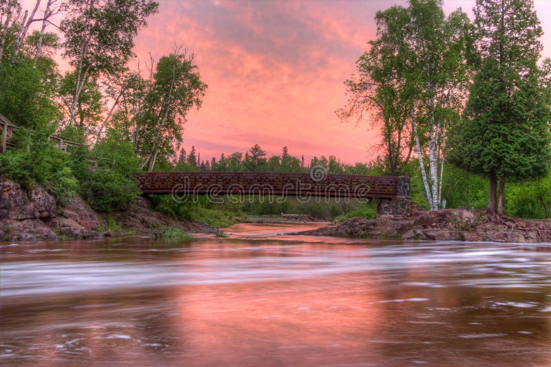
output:
M123 69L132 54L134 37L158 10L153 0L68 0L60 29L63 56L75 68L70 121L76 121L79 98L89 78Z

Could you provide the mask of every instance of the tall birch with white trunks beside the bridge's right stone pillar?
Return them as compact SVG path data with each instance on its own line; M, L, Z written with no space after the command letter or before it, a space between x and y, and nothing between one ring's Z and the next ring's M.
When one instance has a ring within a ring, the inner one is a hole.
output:
M431 210L441 208L446 126L459 120L469 71L468 16L456 10L446 17L441 5L441 0L410 0L410 23L406 26L406 90L419 168ZM426 148L422 142L426 142ZM428 164L424 162L425 155Z

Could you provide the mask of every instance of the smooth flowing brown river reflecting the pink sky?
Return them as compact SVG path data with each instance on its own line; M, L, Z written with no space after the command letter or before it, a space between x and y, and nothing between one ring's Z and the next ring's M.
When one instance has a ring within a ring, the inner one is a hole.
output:
M551 245L315 226L3 243L0 365L551 366Z

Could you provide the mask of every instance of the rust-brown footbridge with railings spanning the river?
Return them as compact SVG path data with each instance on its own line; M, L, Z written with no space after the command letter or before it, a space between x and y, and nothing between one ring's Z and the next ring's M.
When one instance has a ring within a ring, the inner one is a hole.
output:
M409 178L315 173L141 173L144 194L264 194L393 199L409 196Z

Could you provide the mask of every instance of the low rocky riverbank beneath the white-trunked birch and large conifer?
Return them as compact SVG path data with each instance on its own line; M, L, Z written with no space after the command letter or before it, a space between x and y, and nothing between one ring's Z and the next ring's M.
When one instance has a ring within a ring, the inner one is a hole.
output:
M355 217L296 234L402 240L488 241L508 243L551 242L551 221L495 218L483 211L448 209L412 212L408 216L379 219Z

